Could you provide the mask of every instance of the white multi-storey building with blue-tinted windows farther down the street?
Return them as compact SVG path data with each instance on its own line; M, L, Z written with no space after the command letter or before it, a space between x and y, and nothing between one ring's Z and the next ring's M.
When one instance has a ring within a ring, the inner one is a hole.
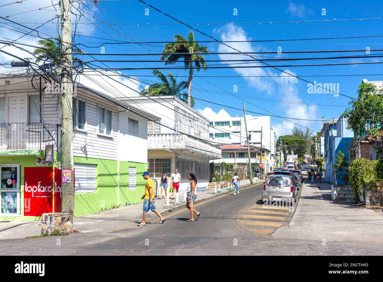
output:
M201 114L210 121L209 140L211 140L211 142L217 145L247 145L245 119L243 116L232 117L224 109L221 109L216 114L211 110L205 109ZM271 166L276 165L276 139L275 132L270 126L270 116L253 117L252 115L246 115L246 122L250 145L260 147L262 136L262 147L270 151L267 164L265 164L265 168L268 170Z

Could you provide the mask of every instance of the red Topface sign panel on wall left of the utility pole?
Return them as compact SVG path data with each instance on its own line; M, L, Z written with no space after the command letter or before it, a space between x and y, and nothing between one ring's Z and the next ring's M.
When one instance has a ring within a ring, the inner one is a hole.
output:
M53 168L24 168L24 215L53 212Z

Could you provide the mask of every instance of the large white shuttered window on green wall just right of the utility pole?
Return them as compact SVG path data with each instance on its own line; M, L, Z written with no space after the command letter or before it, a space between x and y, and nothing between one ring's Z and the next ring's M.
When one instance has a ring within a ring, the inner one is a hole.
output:
M96 192L96 165L74 163L75 193Z

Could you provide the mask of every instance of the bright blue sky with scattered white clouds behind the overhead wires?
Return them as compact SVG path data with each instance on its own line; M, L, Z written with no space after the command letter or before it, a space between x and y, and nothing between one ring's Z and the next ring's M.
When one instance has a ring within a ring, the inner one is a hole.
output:
M162 10L169 15L185 22L185 23L237 23L248 21L293 21L293 20L333 20L336 19L352 19L352 18L378 18L381 17L381 11L383 3L381 1L369 1L368 5L361 5L357 1L321 1L302 2L302 1L193 1L193 2L177 2L174 5L169 5L168 2L159 1L147 1L154 7ZM217 5L219 3L219 5ZM36 8L42 8L52 5L51 0L28 0L21 4L14 4L2 7L2 16L13 15L19 12L25 12ZM187 26L183 25L142 25L145 23L175 23L171 18L162 15L152 8L147 7L141 2L132 1L103 1L98 3L98 8L94 7L91 3L85 2L85 5L91 8L82 6L86 11L85 16L88 20L94 23L134 23L135 25L85 25L89 21L85 18L80 20L81 25L77 25L78 35L95 36L100 38L110 39L110 36L118 40L131 40L132 37L136 41L167 41L171 40L175 33L179 33L183 36L187 36L187 32L190 30ZM106 7L115 13L110 12ZM191 7L190 7L191 5ZM57 7L58 8L58 7ZM145 15L145 9L149 8L149 15ZM326 9L326 15L322 15L322 9ZM233 9L237 9L237 15L233 15ZM52 8L47 8L41 11L23 13L22 15L16 15L9 17L10 20L16 22L25 22L26 26L36 27L38 25L34 22L44 22L49 20L56 13L52 11ZM51 11L49 11L51 10ZM72 12L78 13L75 9ZM89 14L90 15L89 15ZM105 14L104 14L105 13ZM91 16L92 15L92 16ZM100 17L102 20L96 18ZM117 18L117 16L120 19ZM110 18L108 18L110 17ZM75 17L72 15L72 20ZM57 20L56 20L57 21ZM54 22L56 23L54 20ZM2 23L6 22L1 20ZM29 24L31 23L31 24ZM137 26L137 23L140 25ZM5 24L1 24L5 26ZM8 25L11 27L12 25ZM15 26L15 25L13 25ZM264 56L278 57L278 58L308 58L308 57L320 57L320 56L341 56L341 55L357 55L365 54L359 53L327 53L327 54L283 54L284 51L303 51L303 50L336 50L336 49L379 49L383 46L382 38L357 38L357 39L343 39L343 40L316 40L316 41L295 41L286 42L287 39L301 39L301 38L329 38L329 37L348 37L348 36L376 36L382 35L383 20L378 21L344 21L341 23L273 23L273 24L240 24L240 25L192 25L194 28L213 36L218 40L280 40L279 42L272 43L228 43L228 45L239 49L241 51L278 51L278 48L282 49L282 54L264 54ZM57 25L47 24L39 30L56 37ZM105 33L108 35L105 35ZM89 34L88 34L89 33ZM195 38L197 40L210 40L206 36L194 31ZM117 36L116 36L117 35ZM119 35L119 36L118 36ZM0 36L15 40L20 33L2 28L0 30ZM141 38L140 38L141 37ZM106 40L87 38L83 36L77 36L76 42L82 43L95 43L88 44L96 46L97 42L105 42ZM19 42L24 42L32 45L36 45L36 38L31 36L25 36ZM107 41L112 42L112 41ZM233 51L228 47L219 43L205 43L211 52L228 52ZM161 44L155 44L159 46L142 46L135 45L106 45L105 53L147 53L147 52L160 52L162 50ZM8 47L7 47L8 48ZM4 50L7 50L4 48ZM100 48L86 48L81 46L84 51L99 53ZM126 48L126 49L125 49ZM14 48L13 48L14 49ZM8 51L12 50L12 47L8 48ZM12 50L15 54L20 56L23 54L19 50ZM383 52L371 52L371 53L383 53ZM25 54L24 57L27 54ZM30 56L30 55L29 55ZM106 59L106 56L95 56L97 58ZM239 59L243 56L238 55L209 55L208 59ZM140 57L142 58L142 56ZM150 59L159 59L159 56L151 56ZM249 57L247 57L249 58ZM128 59L126 56L108 56L107 59ZM129 56L129 59L136 59ZM148 59L148 58L144 58ZM9 57L0 55L0 61L7 61ZM340 63L340 62L362 62L362 61L382 61L380 58L372 59L332 59L326 61L298 61L292 62L292 64L322 64L322 63ZM290 64L291 62L284 62L282 64ZM101 65L100 63L98 63ZM146 67L143 63L106 63L109 67L124 68L124 67ZM216 64L216 63L210 63ZM278 64L278 62L272 63ZM150 67L163 66L162 63L147 63ZM182 66L182 64L179 64ZM253 65L256 65L253 63ZM226 66L226 65L225 65ZM344 66L311 66L311 67L285 67L281 68L289 73L296 74L298 76L318 76L318 75L339 75L339 74L383 74L380 64L367 64L367 65L344 65ZM167 73L166 70L163 70ZM151 75L150 70L131 70L122 71L123 74L136 77L140 80L146 80L145 83L137 82L136 85L127 79L120 78L123 83L128 84L130 87L141 91L142 87L146 84L150 84L151 81L155 81L153 77L141 77L141 75ZM173 71L173 74L177 74L177 70ZM299 81L295 78L286 77L265 77L265 78L245 78L244 76L281 76L281 72L271 68L247 68L247 69L208 69L207 71L200 71L196 73L196 76L239 76L233 78L201 78L195 77L192 82L192 95L196 98L208 100L221 104L222 107L231 115L240 115L241 110L228 109L224 106L231 106L238 109L242 109L242 99L246 100L246 109L248 111L259 112L262 114L268 114L268 110L274 115L280 115L285 117L295 117L300 119L319 119L324 117L326 120L332 118L338 118L343 112L344 107L332 107L332 106L347 106L349 98L343 96L334 97L334 94L309 94L307 82ZM179 70L178 76L187 75L187 71ZM282 74L282 76L285 74ZM328 76L328 77L304 77L304 79L318 83L334 83L339 85L339 92L347 96L356 97L356 90L362 79L366 78L370 81L383 80L382 76ZM181 79L181 78L179 78ZM187 78L182 78L187 80ZM210 83L209 83L210 82ZM214 84L214 85L212 85ZM218 88L218 87L219 88ZM134 95L134 92L124 89L124 87L118 87L119 91L126 93L127 95ZM233 92L234 89L237 92ZM224 89L224 90L222 90ZM237 97L228 94L227 92L236 96L250 96ZM270 99L283 100L285 102L302 102L313 103L329 106L313 106L308 104L291 104L280 103L279 101L270 101ZM262 108L258 108L254 105ZM211 104L209 102L196 101L195 108L198 110L210 107L214 112L218 112L221 106ZM265 109L265 110L263 110ZM250 113L257 115L255 113ZM298 125L294 125L291 122L280 119L278 117L272 117L273 129L277 132L277 135L289 134L291 129L296 126L298 129L304 130ZM317 121L303 121L293 120L297 124L306 127L309 126L313 130L321 130L322 122Z

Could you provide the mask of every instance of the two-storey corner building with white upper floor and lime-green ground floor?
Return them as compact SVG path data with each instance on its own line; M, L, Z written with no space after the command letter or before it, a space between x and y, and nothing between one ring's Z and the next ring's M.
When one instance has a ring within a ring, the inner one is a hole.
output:
M61 211L61 95L44 86L39 76L0 77L0 220ZM160 119L107 91L78 84L74 94L74 215L142 201L147 122Z

